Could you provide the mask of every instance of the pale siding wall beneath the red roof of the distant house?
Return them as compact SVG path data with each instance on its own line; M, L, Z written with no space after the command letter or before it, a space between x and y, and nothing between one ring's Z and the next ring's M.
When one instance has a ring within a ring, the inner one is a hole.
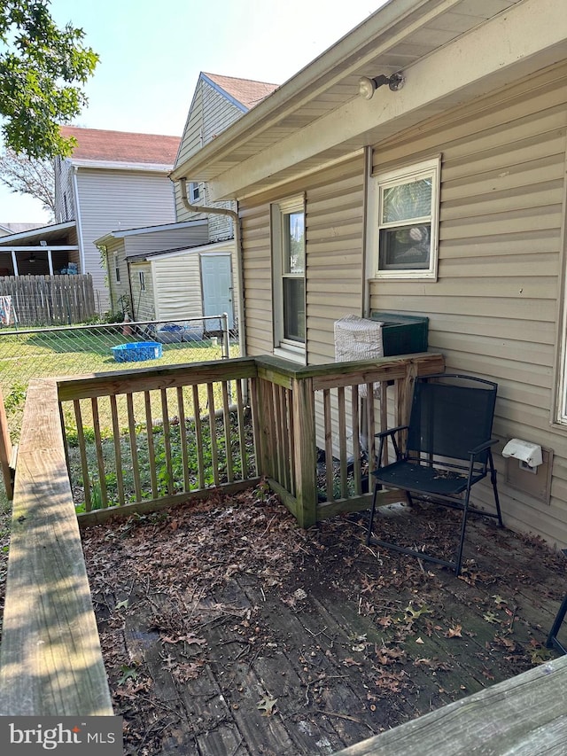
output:
M165 172L97 168L80 168L77 183L84 272L92 275L93 287L105 309L105 271L95 240L113 230L175 222L173 188Z

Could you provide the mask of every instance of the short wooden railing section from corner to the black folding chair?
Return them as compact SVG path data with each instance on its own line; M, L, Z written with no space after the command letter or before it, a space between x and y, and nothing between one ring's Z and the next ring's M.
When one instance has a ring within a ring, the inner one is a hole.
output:
M369 508L374 434L389 418L406 422L416 376L445 365L432 354L307 368L272 357L256 363L259 470L303 527ZM380 496L380 503L392 499Z

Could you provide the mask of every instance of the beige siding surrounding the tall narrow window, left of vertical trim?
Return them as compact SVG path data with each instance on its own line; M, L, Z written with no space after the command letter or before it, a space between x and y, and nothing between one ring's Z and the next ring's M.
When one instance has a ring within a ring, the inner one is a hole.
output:
M246 348L274 351L270 203L306 195L307 361L334 360L334 322L361 314L363 163L341 163L240 205L243 230ZM250 204L249 204L250 203Z

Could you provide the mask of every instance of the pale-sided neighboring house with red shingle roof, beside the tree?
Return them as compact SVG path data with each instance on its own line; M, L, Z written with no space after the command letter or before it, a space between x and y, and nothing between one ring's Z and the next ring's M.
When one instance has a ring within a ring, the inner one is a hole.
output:
M76 222L80 272L90 273L101 309L109 306L105 262L95 241L113 229L175 222L167 175L178 136L61 128L77 141L73 155L55 161L57 222Z

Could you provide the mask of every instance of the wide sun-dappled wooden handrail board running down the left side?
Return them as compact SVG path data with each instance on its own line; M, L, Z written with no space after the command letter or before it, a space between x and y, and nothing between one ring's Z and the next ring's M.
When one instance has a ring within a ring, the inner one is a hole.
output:
M113 714L57 390L47 379L27 389L0 648L3 716Z

